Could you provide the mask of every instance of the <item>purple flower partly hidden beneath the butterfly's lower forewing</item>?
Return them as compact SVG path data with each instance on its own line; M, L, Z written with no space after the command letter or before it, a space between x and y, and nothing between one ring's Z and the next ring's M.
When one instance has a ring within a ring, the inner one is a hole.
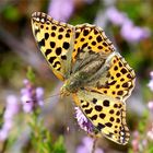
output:
M93 133L94 126L91 121L84 116L79 107L75 107L75 118L81 129L86 131L87 133Z

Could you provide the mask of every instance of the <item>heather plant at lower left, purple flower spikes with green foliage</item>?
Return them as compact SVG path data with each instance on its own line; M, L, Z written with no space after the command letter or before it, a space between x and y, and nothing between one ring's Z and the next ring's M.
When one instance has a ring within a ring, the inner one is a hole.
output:
M54 142L40 116L44 106L44 89L35 86L32 69L28 70L27 76L28 79L23 81L24 87L21 89L20 98L15 95L9 95L7 98L0 129L1 153L12 152L12 150L15 152L13 148L17 141L22 145L19 149L20 152L27 153L34 150L36 153L64 153L63 138L59 137ZM12 133L11 130L15 127L17 132Z

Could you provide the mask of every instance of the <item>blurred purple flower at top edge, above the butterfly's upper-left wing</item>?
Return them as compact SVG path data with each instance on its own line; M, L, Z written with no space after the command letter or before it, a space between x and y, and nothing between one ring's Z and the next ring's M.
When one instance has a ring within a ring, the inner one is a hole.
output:
M50 0L48 14L54 19L67 22L74 9L74 0Z

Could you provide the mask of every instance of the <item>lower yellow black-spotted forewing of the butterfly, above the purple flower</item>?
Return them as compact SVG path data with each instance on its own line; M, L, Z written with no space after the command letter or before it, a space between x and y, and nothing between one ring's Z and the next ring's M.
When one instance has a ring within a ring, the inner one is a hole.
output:
M99 133L119 144L128 142L130 134L126 123L125 103L85 90L80 90L76 94L73 94L73 98Z

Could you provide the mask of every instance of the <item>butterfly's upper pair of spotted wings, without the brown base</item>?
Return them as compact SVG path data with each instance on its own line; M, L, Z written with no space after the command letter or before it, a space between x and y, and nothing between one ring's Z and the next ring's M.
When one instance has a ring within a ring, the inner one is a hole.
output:
M72 26L35 12L32 15L32 28L40 51L60 80L69 76L70 66L79 54L93 50L106 59L115 50L104 31L91 24Z

